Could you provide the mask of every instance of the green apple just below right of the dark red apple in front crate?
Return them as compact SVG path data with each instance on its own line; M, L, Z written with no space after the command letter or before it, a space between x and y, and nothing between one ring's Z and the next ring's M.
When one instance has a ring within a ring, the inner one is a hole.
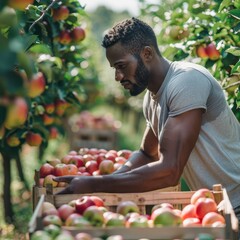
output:
M104 224L103 211L97 206L90 206L83 212L83 217L87 219L92 226L102 227Z

